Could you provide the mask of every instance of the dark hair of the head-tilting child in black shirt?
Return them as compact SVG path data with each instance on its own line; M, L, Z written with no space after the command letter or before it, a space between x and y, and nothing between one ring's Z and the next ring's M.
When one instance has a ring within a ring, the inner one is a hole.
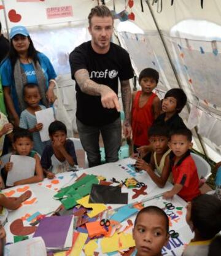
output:
M177 113L181 112L184 108L185 104L187 103L187 95L185 95L184 90L180 88L173 88L165 94L165 98L173 97L177 101Z

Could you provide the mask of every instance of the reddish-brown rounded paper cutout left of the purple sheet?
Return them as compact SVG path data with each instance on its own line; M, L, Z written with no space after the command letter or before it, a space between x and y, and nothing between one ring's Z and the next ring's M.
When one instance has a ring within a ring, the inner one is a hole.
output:
M36 231L36 227L25 227L23 225L23 221L21 219L17 219L10 224L10 231L15 236L27 236L34 233L34 231Z

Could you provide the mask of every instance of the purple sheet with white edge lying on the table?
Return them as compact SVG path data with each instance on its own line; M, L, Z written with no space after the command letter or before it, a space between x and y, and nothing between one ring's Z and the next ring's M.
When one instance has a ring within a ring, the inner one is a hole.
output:
M33 237L41 236L48 249L64 249L72 246L73 216L51 216L41 220Z

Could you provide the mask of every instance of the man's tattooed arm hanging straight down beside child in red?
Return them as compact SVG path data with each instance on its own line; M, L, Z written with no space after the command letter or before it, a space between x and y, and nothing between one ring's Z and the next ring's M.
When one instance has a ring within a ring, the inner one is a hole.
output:
M123 134L126 138L131 135L131 88L129 80L120 81L123 111L125 112L125 122L123 122Z

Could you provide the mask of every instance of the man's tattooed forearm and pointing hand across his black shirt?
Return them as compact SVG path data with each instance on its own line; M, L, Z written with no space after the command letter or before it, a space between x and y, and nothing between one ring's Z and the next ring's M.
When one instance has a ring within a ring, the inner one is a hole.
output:
M120 111L120 104L118 103L116 93L107 85L102 85L91 80L87 69L79 69L75 72L74 77L83 93L92 96L101 96L103 107L107 109L116 108L118 112Z

